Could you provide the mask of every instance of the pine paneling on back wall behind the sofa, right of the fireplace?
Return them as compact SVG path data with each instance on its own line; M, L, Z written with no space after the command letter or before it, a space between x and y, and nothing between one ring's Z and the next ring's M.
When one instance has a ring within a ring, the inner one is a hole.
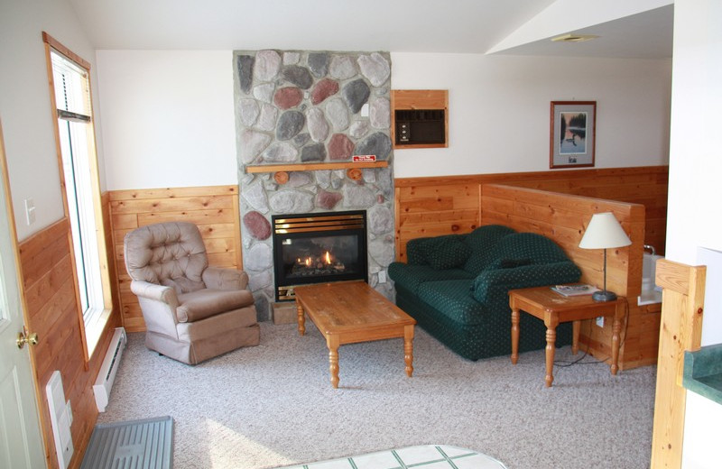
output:
M591 198L642 204L644 244L664 253L669 167L645 166L601 170L476 174L468 176L394 179L396 258L406 259L410 239L467 233L481 217L482 184L504 184Z

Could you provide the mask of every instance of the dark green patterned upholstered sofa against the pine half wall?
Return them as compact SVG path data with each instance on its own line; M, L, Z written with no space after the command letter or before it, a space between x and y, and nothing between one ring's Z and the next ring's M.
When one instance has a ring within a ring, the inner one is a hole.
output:
M396 304L457 354L478 360L511 354L508 291L579 281L581 271L551 239L502 225L468 234L417 238L408 262L393 262ZM544 348L546 326L522 314L519 352ZM571 323L557 327L557 346L571 343Z

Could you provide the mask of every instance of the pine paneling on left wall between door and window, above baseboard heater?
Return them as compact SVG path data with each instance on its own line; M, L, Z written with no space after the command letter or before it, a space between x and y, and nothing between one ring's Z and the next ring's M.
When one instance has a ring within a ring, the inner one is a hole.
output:
M79 467L85 447L97 420L93 383L105 358L112 332L120 326L119 315L111 315L96 353L85 362L80 333L79 304L70 258L67 218L33 234L19 244L23 296L27 308L28 329L40 338L31 348L35 379L41 395L41 424L46 443L48 467L58 467L52 436L50 410L45 385L51 373L60 371L65 398L73 409L70 433L75 453L70 467Z

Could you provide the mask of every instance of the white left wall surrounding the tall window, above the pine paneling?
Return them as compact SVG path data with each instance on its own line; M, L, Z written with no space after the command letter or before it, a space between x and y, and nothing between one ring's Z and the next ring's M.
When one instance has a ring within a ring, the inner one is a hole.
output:
M51 115L42 31L48 32L91 64L91 87L97 101L95 51L66 0L3 0L0 14L0 118L5 135L18 239L63 216L55 122ZM97 103L96 103L97 105ZM95 115L96 125L100 113ZM98 134L98 165L105 172ZM101 176L101 189L105 180ZM36 221L25 223L24 199L32 198Z

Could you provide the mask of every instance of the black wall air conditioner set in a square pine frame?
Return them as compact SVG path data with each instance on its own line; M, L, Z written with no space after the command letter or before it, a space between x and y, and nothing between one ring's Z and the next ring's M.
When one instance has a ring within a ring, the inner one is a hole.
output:
M392 89L393 148L449 146L449 90Z

